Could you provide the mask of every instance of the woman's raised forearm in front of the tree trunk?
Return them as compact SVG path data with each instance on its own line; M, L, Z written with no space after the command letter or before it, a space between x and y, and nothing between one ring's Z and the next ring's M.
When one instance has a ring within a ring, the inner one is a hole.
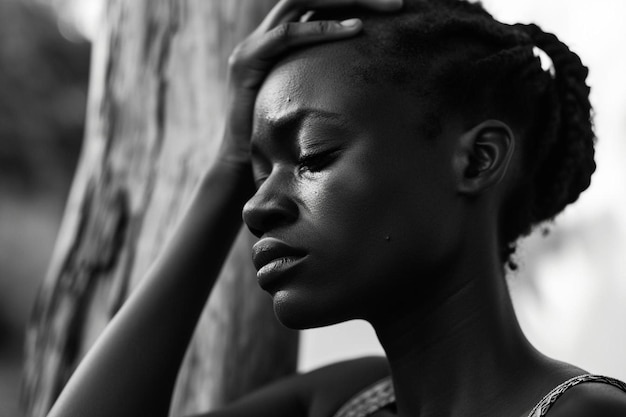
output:
M211 169L158 261L49 417L167 416L178 369L251 192L245 167L218 163Z

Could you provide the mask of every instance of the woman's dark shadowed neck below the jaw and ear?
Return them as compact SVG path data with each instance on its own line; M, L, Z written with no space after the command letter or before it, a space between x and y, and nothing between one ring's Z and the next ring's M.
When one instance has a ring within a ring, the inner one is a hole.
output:
M390 363L399 416L490 416L512 405L520 381L541 374L499 262L458 265L463 274L430 307L396 306L371 320ZM519 395L517 396L519 397ZM511 408L512 407L512 408Z

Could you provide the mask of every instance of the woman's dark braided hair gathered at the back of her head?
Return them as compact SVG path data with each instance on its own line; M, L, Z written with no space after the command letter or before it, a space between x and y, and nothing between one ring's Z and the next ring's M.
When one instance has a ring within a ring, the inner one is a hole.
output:
M358 76L408 85L426 100L428 135L437 136L439 115L451 110L468 127L500 119L520 133L521 169L498 219L501 260L514 269L517 240L576 201L595 171L588 70L578 55L537 25L503 24L465 0L405 0L402 12L382 17L330 13L315 19L364 21L354 45L368 59ZM554 68L542 67L537 48Z

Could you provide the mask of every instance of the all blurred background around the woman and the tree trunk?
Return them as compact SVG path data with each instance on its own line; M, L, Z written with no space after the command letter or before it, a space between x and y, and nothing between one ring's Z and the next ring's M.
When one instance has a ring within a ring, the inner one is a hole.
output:
M537 347L626 379L626 2L485 0L505 22L555 32L591 69L592 187L522 245L510 287ZM81 148L90 40L102 0L0 0L0 417L18 412L23 329ZM302 334L300 368L381 354L362 322Z

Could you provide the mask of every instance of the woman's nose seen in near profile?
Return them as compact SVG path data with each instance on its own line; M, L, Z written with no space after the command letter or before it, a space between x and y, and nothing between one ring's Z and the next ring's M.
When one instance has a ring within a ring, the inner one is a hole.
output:
M280 177L270 175L243 207L243 221L256 237L298 218L298 205L290 196L290 185Z

